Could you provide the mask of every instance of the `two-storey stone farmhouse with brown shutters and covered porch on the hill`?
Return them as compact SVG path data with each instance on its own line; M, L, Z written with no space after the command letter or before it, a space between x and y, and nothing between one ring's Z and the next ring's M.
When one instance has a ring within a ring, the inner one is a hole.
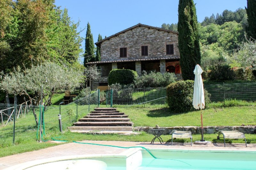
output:
M112 69L175 73L181 78L178 32L137 24L96 42L101 61L89 62L100 66L101 78L90 82L92 89L108 89L108 74ZM125 76L125 75L124 75Z

